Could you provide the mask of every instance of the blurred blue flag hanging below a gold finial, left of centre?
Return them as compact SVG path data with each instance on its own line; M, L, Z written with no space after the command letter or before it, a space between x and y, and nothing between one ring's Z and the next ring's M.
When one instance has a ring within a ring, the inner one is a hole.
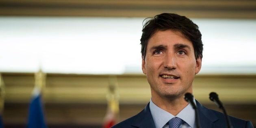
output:
M32 101L29 106L27 128L47 128L43 113L41 95L39 91L37 91L36 94L34 93Z

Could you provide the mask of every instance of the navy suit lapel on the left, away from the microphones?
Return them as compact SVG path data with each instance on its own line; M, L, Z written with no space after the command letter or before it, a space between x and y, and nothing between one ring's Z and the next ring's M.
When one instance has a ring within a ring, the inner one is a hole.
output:
M155 128L154 120L150 112L149 103L143 109L143 111L136 115L131 125L137 128Z

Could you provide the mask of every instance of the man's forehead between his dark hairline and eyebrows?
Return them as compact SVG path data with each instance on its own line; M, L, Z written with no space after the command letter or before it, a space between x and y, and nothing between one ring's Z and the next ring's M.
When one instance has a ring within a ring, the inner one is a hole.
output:
M176 30L158 30L156 31L148 41L148 49L150 47L164 45L175 46L176 44L184 44L190 46L193 49L192 42L187 39L182 33Z

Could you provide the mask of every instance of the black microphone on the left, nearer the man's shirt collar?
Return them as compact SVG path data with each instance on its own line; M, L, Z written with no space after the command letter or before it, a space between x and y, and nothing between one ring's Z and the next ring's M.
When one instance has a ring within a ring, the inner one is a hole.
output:
M195 122L196 122L196 128L201 128L200 126L200 119L199 119L199 116L198 116L198 110L197 110L197 107L193 101L193 98L194 96L191 94L191 93L186 93L184 95L184 99L189 102L189 104L191 104L192 108L195 110Z

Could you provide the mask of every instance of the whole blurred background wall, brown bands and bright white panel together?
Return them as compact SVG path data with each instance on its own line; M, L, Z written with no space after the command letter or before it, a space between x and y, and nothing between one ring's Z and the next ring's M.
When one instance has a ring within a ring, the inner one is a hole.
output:
M254 0L1 0L4 126L28 124L39 69L46 74L42 102L49 128L102 128L112 94L117 121L139 113L150 100L140 67L142 22L160 13L185 15L201 30L195 98L219 111L208 99L215 91L229 115L256 126Z

